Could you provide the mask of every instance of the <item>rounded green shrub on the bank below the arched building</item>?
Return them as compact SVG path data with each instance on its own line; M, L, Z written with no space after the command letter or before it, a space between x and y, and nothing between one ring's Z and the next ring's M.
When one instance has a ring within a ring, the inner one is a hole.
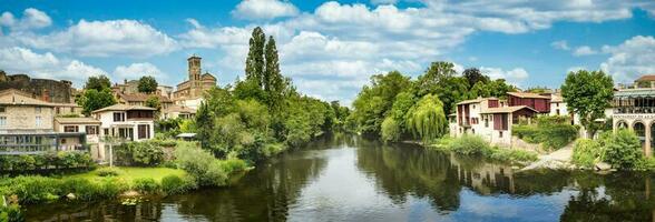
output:
M603 160L613 168L633 169L642 159L642 142L634 132L622 129L606 139Z

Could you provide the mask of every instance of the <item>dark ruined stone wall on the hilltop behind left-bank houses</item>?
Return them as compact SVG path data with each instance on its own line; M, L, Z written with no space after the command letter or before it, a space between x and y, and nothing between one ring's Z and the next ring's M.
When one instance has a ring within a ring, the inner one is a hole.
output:
M57 103L72 103L72 83L66 80L31 79L27 74L7 74L0 70L0 91L17 89L33 98Z

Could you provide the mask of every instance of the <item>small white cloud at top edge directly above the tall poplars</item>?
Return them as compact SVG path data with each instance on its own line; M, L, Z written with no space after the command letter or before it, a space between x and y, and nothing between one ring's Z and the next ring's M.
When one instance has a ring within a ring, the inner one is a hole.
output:
M244 0L232 11L234 17L248 20L293 17L297 13L295 6L280 0Z

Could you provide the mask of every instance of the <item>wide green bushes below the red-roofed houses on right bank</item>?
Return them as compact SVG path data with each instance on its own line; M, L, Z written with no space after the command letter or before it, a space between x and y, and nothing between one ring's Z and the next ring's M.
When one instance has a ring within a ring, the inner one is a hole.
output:
M571 125L568 117L541 115L536 124L518 124L512 133L529 143L541 143L547 149L560 149L578 135L577 125Z

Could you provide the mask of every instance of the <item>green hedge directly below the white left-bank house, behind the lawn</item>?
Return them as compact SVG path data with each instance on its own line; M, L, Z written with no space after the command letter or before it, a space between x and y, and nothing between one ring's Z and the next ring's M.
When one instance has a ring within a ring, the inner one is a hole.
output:
M117 162L124 165L156 165L164 161L164 150L157 141L123 143L115 152Z

